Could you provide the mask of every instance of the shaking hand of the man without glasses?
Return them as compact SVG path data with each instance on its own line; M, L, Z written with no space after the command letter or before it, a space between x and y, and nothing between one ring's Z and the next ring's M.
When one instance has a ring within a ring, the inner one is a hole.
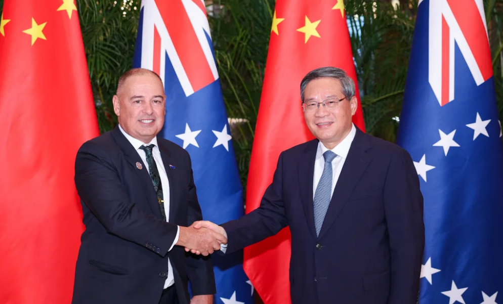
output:
M227 237L210 229L181 227L176 245L200 252L202 255L213 253L220 249L220 244L227 243Z

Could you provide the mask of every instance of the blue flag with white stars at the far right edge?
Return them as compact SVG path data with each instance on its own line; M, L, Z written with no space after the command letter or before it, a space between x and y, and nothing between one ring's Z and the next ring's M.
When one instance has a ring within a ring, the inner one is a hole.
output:
M503 146L482 0L420 1L397 142L425 198L420 303L503 303Z

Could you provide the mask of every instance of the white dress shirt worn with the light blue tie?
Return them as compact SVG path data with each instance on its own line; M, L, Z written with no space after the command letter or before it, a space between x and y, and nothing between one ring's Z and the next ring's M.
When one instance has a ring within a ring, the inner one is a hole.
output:
M336 147L331 149L333 153L336 153L336 158L332 160L332 192L330 194L330 199L333 195L333 190L336 189L337 181L341 175L342 167L346 158L348 158L349 148L351 148L351 143L355 139L356 127L353 124L349 134L340 142ZM328 149L323 145L322 142L318 144L318 151L316 152L316 160L314 161L314 178L313 178L313 200L316 194L316 187L320 182L321 175L323 174L323 168L325 167L325 158L323 153L328 151Z

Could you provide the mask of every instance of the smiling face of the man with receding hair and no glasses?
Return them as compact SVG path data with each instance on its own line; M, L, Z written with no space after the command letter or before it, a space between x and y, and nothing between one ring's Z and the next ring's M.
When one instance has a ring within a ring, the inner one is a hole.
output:
M144 143L157 136L164 124L165 95L153 73L129 76L113 97L113 110L122 129Z

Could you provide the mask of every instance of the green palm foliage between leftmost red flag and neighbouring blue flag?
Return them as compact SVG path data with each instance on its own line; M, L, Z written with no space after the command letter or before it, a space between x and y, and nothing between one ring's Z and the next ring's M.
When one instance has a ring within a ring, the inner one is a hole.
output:
M117 123L112 97L120 75L131 69L133 64L140 0L127 1L125 4L121 0L77 0L82 39L102 133L109 131Z

